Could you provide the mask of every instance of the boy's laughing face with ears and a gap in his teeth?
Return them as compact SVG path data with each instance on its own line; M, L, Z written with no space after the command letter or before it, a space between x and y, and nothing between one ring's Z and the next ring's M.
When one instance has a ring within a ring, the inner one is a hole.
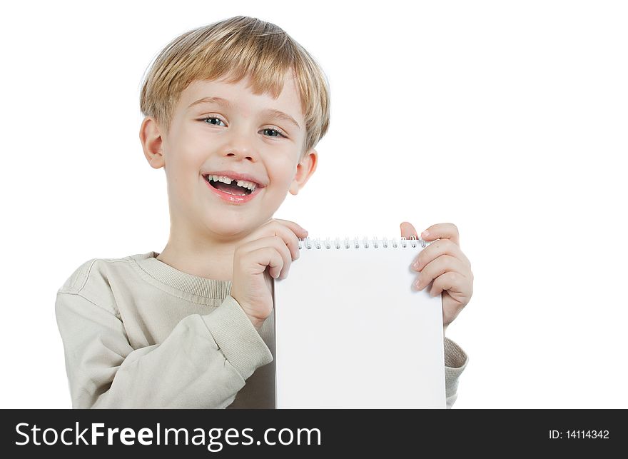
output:
M288 191L297 194L315 171L315 150L298 163L305 121L293 78L285 79L278 99L253 94L248 83L194 81L181 94L169 132L161 132L153 118L142 123L144 153L151 166L166 170L171 223L181 236L241 238L269 221ZM229 106L197 103L204 98L225 99ZM221 171L251 176L261 186L231 198L206 180Z

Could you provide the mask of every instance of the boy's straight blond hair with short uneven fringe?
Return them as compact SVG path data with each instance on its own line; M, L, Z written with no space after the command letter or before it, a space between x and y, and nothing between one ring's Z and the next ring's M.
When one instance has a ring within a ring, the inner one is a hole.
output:
M292 37L270 22L234 16L181 34L156 57L140 94L140 109L166 132L181 93L196 80L216 80L233 74L228 83L246 76L253 94L276 99L288 71L293 71L305 118L305 142L300 153L314 148L325 136L330 117L327 76Z

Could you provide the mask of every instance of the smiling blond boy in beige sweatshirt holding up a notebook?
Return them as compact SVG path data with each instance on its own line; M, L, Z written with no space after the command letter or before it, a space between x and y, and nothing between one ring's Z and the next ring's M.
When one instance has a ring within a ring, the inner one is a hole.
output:
M274 407L269 276L288 276L307 231L273 214L315 171L328 97L308 52L258 19L188 31L161 52L141 90L140 139L166 172L170 238L161 253L87 261L59 289L74 408ZM469 277L455 226L430 228L442 243L423 251L425 285L451 271L445 257ZM470 283L457 291L451 320ZM445 349L450 407L467 357Z

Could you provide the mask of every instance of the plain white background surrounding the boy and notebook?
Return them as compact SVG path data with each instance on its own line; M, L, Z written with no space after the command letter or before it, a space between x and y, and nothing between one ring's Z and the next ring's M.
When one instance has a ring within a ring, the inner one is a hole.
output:
M628 408L624 2L6 5L2 408L71 406L56 291L90 258L168 240L143 74L175 36L240 14L330 81L318 170L276 218L321 237L460 229L475 292L447 330L470 356L454 408Z

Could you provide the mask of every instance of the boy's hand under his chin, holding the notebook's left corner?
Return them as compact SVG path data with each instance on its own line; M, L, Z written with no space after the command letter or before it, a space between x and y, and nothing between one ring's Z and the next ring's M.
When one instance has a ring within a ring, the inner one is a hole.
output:
M259 329L273 311L270 277L288 277L290 263L299 258L298 238L308 236L293 221L273 218L250 233L233 253L231 296ZM268 269L267 269L268 267Z

